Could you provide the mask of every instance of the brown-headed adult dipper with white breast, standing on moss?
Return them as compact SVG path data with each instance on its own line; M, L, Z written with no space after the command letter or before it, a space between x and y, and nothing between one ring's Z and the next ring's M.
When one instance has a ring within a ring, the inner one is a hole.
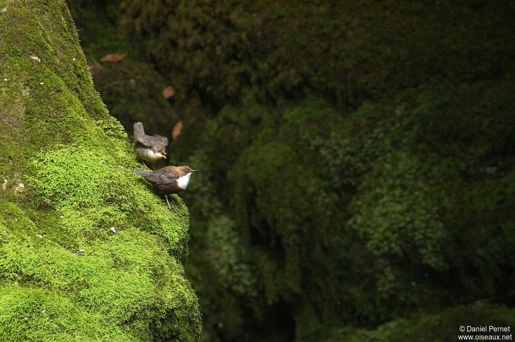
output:
M165 166L153 172L139 169L132 171L142 175L143 178L152 183L158 193L164 194L168 209L171 210L168 195L185 190L188 187L188 183L190 183L192 173L198 170L192 170L189 166Z

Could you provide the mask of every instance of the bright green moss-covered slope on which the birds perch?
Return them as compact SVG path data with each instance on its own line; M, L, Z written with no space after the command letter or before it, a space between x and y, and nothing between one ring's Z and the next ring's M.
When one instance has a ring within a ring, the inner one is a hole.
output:
M0 340L199 340L187 209L132 174L64 1L0 1L0 111Z

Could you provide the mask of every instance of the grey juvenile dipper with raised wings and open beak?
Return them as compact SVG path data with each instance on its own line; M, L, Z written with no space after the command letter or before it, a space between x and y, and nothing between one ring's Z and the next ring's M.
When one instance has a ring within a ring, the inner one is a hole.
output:
M134 123L132 147L139 159L156 163L156 161L166 158L166 145L168 145L168 138L161 135L146 135L143 123Z

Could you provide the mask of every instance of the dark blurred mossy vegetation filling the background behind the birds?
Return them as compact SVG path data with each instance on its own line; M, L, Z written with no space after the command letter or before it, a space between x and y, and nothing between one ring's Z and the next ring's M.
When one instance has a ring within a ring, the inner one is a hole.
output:
M69 5L110 113L202 171L205 341L515 325L515 3Z

